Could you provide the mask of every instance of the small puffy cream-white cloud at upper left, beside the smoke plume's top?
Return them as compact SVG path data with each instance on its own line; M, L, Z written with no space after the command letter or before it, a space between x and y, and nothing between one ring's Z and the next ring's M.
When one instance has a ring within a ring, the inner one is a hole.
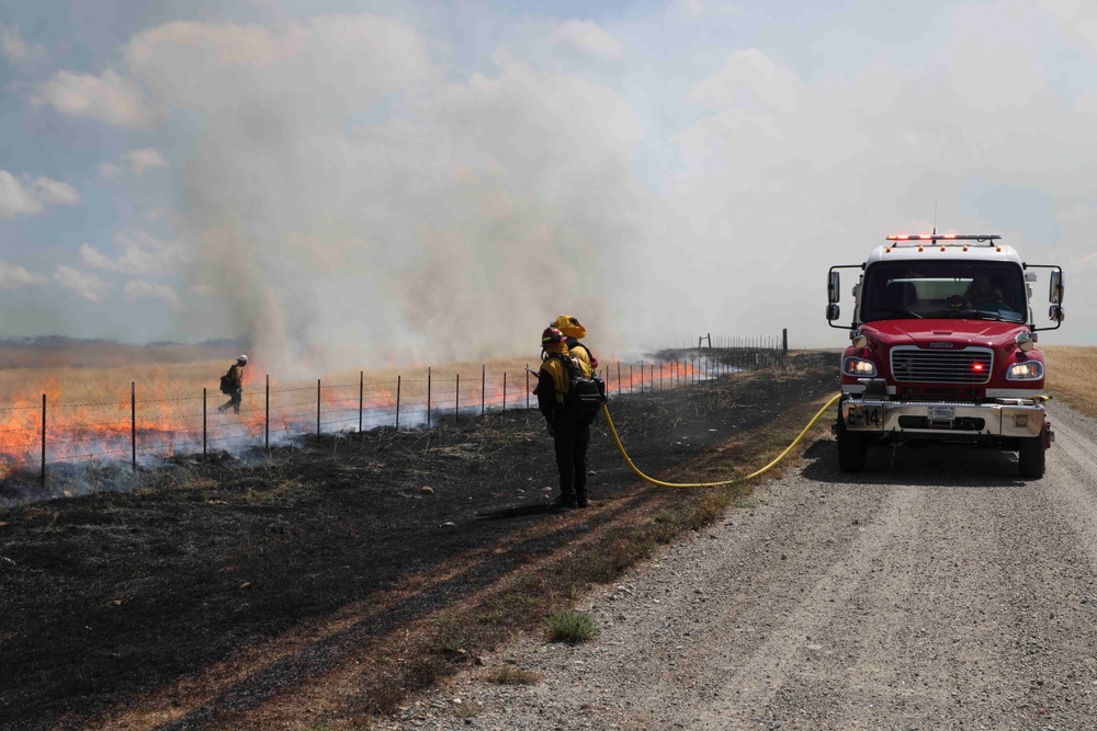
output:
M152 127L162 117L139 85L112 70L100 76L58 71L42 84L35 101L63 114L127 129Z

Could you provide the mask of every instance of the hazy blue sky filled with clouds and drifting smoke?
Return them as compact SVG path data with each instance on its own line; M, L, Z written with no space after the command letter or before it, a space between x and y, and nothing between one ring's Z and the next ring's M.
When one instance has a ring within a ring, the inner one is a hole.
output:
M0 88L2 336L838 346L827 267L936 215L1097 342L1093 3L16 2Z

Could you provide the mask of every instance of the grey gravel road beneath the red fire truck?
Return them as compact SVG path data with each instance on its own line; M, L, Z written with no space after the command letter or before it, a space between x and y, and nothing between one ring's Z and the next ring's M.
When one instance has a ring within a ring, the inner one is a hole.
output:
M1013 455L821 435L716 526L385 728L1097 728L1097 424L1053 402L1042 480ZM486 681L505 663L530 685Z

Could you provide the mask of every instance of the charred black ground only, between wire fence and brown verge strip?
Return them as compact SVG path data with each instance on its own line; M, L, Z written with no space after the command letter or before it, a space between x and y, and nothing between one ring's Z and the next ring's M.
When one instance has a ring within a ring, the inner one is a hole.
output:
M634 461L658 476L834 391L833 359L798 355L750 375L613 398L610 410ZM604 420L592 435L591 468L596 502L624 499L627 510L656 492L623 464ZM557 519L547 506L555 484L543 420L509 411L428 431L313 437L246 459L180 457L142 472L131 491L2 511L3 727L95 726L270 638L376 601L338 640L147 727L223 728L226 709L253 708L286 678L320 673L363 652L369 638L596 529L598 521ZM489 550L519 534L509 550ZM476 551L489 558L381 601L402 582Z

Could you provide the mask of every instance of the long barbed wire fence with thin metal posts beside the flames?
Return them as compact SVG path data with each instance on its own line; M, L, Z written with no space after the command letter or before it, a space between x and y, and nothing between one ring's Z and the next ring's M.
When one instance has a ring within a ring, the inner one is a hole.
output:
M771 339L734 339L702 335L708 349L692 343L680 349L681 359L612 362L598 369L607 396L681 388L730 373L768 366L788 353L787 344ZM715 341L715 342L714 342ZM785 340L787 343L787 340ZM675 351L674 346L668 351ZM46 487L48 466L60 462L129 462L134 470L146 458L227 452L250 447L270 450L306 434L364 433L377 427L431 427L442 421L484 416L488 412L536 409L535 368L520 374L490 374L480 367L479 378L462 381L461 374L441 379L428 367L425 377L397 375L393 381L328 382L314 386L272 387L267 374L252 385L239 413L228 403L213 408L219 391L203 388L201 396L144 398L131 381L128 400L41 406L0 406L0 478L33 475ZM140 398L138 398L140 397ZM222 412L228 411L228 418Z

